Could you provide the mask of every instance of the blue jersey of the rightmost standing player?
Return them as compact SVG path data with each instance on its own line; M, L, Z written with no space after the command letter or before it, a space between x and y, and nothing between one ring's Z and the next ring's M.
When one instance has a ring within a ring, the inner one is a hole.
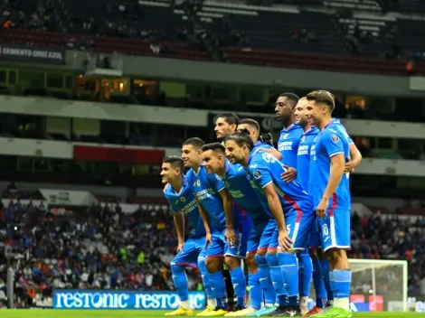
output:
M308 192L313 197L315 208L325 193L331 171L331 158L335 154L344 154L346 162L350 157L350 149L345 129L341 125L330 122L316 136L310 148ZM351 209L349 173L343 175L332 198L329 199L328 209Z

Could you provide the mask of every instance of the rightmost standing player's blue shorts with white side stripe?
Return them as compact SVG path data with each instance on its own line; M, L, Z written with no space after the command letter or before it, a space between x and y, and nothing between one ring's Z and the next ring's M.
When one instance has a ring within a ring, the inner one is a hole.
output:
M317 218L321 230L322 249L329 248L349 249L351 210L329 209L326 218Z

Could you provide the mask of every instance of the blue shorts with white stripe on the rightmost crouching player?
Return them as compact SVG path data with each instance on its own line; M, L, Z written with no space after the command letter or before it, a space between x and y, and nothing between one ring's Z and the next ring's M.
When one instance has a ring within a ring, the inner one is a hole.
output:
M285 215L288 236L289 239L292 239L293 249L302 250L307 247L314 217L315 214L312 211L303 212L299 209L294 209ZM273 233L270 245L271 248L279 248L279 229L276 229Z

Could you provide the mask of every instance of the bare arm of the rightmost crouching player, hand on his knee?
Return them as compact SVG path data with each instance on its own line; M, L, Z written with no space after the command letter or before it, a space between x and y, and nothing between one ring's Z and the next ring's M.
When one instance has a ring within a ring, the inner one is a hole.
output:
M287 225L285 223L285 217L283 216L282 205L279 201L278 193L276 193L273 182L263 187L264 194L266 195L267 202L271 214L276 220L279 229L279 247L284 251L288 251L292 248L292 240L288 236Z

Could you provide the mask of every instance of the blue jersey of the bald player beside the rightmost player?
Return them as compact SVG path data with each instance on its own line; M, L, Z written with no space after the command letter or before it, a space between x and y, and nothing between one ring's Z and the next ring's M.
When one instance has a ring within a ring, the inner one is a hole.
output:
M297 153L297 182L301 188L306 189L308 192L308 179L310 176L310 148L313 140L316 138L319 130L316 126L308 129L298 145Z

